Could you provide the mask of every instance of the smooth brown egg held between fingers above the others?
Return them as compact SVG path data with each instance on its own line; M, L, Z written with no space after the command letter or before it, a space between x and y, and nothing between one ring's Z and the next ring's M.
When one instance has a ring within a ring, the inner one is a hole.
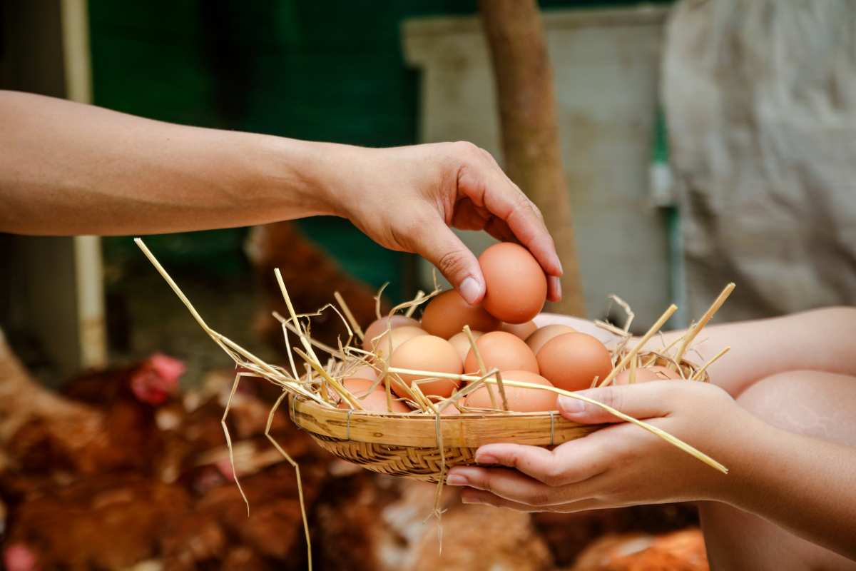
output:
M522 324L538 315L547 300L547 277L525 247L512 242L494 244L479 256L484 274L482 306L509 324Z

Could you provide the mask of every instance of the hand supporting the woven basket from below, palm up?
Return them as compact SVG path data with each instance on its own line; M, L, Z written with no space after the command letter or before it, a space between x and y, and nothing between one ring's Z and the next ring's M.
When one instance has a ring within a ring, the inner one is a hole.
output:
M751 466L752 437L766 426L710 384L656 381L580 394L668 431L725 464L729 473L716 471L639 426L621 422L553 450L487 444L479 448L476 461L503 467L454 467L447 483L467 486L461 494L464 503L521 511L728 502ZM560 397L559 407L562 416L581 424L620 422L603 409L570 397Z

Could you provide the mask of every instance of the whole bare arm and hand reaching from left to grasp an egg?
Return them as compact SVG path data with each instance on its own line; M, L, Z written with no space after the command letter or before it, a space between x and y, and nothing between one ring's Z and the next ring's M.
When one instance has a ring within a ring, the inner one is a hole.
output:
M538 208L469 143L313 143L3 91L0 125L0 231L152 234L329 214L423 255L478 303L484 277L450 227L484 229L528 247L550 299L561 297L562 267Z

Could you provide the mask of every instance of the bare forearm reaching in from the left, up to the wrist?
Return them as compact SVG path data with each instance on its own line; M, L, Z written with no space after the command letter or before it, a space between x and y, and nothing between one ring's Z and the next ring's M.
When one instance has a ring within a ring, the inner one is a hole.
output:
M329 213L323 144L0 92L0 229L146 234Z

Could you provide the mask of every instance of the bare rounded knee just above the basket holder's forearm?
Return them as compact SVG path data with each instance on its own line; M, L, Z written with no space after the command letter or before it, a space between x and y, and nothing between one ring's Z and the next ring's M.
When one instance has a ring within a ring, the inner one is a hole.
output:
M737 402L784 431L856 444L856 378L817 371L783 372L753 384Z

